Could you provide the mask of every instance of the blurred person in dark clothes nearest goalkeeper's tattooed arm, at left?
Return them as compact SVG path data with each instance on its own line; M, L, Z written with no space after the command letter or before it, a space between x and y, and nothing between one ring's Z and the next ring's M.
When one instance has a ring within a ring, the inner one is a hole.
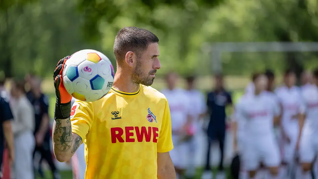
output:
M52 153L50 150L50 130L49 130L49 101L48 97L42 93L41 80L36 76L31 76L29 79L31 90L27 93L27 97L30 100L34 113L35 113L35 142L36 147L34 149L33 157L36 152L41 154L39 161L39 174L43 177L41 168L41 161L45 159L50 166L53 178L60 178L59 172L53 162Z

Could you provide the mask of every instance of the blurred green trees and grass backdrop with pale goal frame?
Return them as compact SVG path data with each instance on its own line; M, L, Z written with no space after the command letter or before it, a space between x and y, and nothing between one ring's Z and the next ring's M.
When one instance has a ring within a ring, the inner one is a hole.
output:
M12 78L41 77L52 122L52 72L59 59L95 49L115 64L114 37L124 26L159 37L162 68L152 85L158 90L173 70L197 75L196 87L206 94L213 75L222 72L235 104L255 71L272 69L279 84L286 68L300 77L318 66L316 0L1 0L0 76L8 88ZM178 86L184 85L180 80ZM228 143L225 161L232 157ZM212 161L217 165L218 157ZM72 177L67 164L58 166L66 170L62 178Z

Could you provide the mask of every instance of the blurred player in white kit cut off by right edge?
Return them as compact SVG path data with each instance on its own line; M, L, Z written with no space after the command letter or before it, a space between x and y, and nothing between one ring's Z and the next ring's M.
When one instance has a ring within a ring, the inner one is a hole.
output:
M318 69L313 72L313 85L301 90L302 115L299 120L300 162L302 179L310 179L312 162L318 153Z

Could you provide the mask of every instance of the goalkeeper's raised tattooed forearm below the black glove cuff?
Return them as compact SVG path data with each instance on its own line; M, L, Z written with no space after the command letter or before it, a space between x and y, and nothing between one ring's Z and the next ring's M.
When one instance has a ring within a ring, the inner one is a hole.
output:
M70 159L82 143L79 135L72 133L70 118L56 119L53 124L53 148L59 161Z

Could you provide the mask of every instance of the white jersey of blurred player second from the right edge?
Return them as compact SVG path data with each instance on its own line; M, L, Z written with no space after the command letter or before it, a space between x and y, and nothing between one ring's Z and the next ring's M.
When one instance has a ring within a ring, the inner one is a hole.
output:
M301 111L301 96L298 87L278 87L275 93L283 107L281 124L284 131L294 133L299 130L297 114Z

